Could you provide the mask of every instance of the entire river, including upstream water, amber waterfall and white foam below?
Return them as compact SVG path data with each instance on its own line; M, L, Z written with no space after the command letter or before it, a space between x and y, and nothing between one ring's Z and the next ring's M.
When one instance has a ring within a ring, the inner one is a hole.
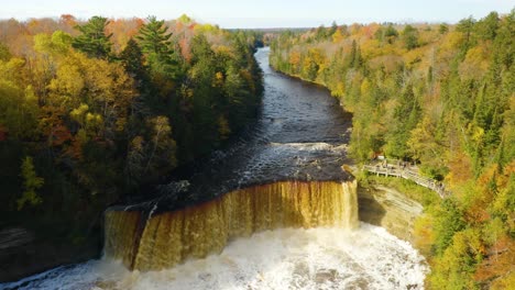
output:
M327 90L274 72L245 141L158 198L105 214L105 257L0 289L421 289L424 258L358 222L350 119ZM352 230L352 231L350 231Z

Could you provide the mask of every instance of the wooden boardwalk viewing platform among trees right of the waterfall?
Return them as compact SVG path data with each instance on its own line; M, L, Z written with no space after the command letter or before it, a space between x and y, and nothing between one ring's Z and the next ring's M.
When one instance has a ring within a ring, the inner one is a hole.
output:
M450 194L449 191L446 190L443 183L427 177L423 177L418 174L418 168L408 166L407 163L401 160L379 160L375 163L370 163L363 166L363 170L375 174L377 176L394 176L394 177L402 177L404 179L409 179L415 183L428 188L440 196L440 198L446 198Z

